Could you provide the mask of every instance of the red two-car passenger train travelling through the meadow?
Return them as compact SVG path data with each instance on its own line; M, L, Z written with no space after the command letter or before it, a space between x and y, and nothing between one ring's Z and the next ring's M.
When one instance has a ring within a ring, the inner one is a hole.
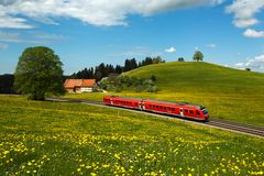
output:
M103 103L107 106L124 107L130 109L165 113L187 119L209 121L209 113L204 106L189 103L176 103L157 100L125 98L118 96L105 96Z

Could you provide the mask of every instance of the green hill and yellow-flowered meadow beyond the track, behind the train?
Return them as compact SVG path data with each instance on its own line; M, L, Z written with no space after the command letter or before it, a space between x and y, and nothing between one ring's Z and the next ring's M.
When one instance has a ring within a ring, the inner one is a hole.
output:
M177 62L144 66L125 75L142 78L155 75L161 91L111 95L204 105L211 118L264 127L264 74L201 62ZM101 100L102 96L66 95L69 98L96 100Z

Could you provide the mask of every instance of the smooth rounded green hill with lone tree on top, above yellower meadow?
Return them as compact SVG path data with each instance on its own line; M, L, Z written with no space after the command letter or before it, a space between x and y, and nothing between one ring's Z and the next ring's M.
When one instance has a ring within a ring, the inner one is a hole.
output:
M210 94L264 92L264 74L228 68L209 63L166 63L141 67L132 77L155 75L162 90Z

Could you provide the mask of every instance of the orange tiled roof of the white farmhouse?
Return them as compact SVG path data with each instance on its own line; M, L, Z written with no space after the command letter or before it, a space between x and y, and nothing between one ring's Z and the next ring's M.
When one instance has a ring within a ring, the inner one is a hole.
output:
M66 79L64 82L65 88L75 87L94 87L96 79Z

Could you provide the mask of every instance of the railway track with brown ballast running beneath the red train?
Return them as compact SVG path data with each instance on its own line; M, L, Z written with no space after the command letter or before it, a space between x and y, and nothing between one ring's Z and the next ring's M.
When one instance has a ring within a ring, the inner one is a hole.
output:
M58 101L58 102L72 102L72 103L88 103L88 105L94 105L94 106L103 106L101 101L90 101L90 100L84 100L84 99L70 99L70 98L46 98L47 101ZM118 108L118 109L123 109L119 107L111 107L111 108ZM130 110L130 111L135 111L132 109L123 109L123 110ZM156 113L151 113L146 111L136 111L139 113L147 113L147 114L156 114ZM172 116L166 116L166 114L157 114L158 117L162 118L169 118L169 119L177 119ZM188 121L191 123L197 123L197 124L202 124L211 128L217 128L217 129L223 129L223 130L229 130L233 132L239 132L252 136L257 136L257 138L264 138L264 128L261 127L255 127L251 124L243 124L243 123L238 123L238 122L232 122L228 120L220 120L220 119L211 119L209 122L201 123L193 120L185 120L185 119L178 119L178 120L184 120Z

